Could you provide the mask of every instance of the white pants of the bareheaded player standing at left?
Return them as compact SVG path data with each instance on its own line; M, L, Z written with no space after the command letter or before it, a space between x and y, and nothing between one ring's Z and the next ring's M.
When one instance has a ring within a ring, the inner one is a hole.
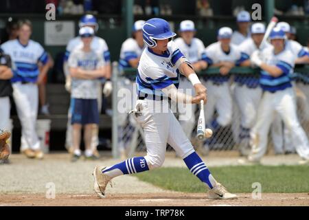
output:
M41 148L36 134L38 114L38 86L34 83L12 83L13 98L21 122L21 151Z

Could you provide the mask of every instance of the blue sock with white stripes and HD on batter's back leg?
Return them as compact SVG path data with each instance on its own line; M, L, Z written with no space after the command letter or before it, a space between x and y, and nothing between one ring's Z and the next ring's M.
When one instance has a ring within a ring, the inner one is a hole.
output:
M104 168L102 173L113 178L119 175L140 173L146 170L149 170L149 168L145 157L133 157L119 164L115 164L114 166Z

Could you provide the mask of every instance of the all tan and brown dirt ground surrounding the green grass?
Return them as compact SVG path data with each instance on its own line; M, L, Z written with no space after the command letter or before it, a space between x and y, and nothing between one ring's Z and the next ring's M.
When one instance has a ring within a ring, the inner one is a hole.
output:
M163 190L124 175L108 187L105 199L93 192L91 175L96 164L110 166L119 159L103 157L100 161L69 162L66 153L46 155L43 160L10 156L12 164L0 165L0 206L309 206L309 193L262 193L262 199L251 194L239 194L233 201L214 201L203 193L183 193ZM203 158L210 166L236 165L238 157L214 155ZM297 155L265 157L264 164L297 164ZM183 160L167 157L163 166L185 166ZM56 186L56 198L47 199L47 183Z

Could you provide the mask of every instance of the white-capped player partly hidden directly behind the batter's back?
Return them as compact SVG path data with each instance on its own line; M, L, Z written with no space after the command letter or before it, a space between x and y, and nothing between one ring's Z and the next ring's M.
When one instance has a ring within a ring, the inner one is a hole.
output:
M135 21L132 30L132 37L126 39L122 43L119 58L119 68L137 68L139 64L139 58L141 58L141 53L144 50L144 40L143 32L141 28L143 27L145 21L139 20ZM119 113L118 126L119 126L119 151L121 157L126 158L127 145L137 144L139 125L136 123L132 115L128 115L128 111L132 109L133 103L136 97L136 87L135 87L135 76L124 76L124 80L119 80L118 82L119 94L128 94L125 96L126 103L128 104L126 111ZM136 134L135 134L136 133ZM124 137L130 137L130 142L125 142ZM135 139L135 140L133 140ZM132 146L131 146L132 147Z

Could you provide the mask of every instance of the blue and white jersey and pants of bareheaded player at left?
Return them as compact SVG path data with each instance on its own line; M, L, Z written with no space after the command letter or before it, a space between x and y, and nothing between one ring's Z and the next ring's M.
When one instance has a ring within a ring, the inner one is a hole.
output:
M1 45L5 54L12 58L14 76L12 78L13 97L21 120L21 151L27 148L40 149L36 134L36 116L38 111L38 63L45 65L48 56L43 47L30 40L22 45L18 39Z

